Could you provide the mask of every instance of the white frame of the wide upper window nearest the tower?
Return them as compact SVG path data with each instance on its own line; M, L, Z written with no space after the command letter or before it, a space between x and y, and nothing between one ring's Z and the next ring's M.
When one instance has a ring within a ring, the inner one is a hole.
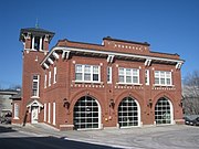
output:
M81 70L76 70L77 66L81 66ZM86 72L85 67L90 67L90 71ZM98 68L98 72L94 72L94 67ZM82 74L82 78L76 79L76 74L80 73ZM85 81L85 74L90 74L90 79ZM94 81L93 75L98 74L98 81ZM84 65L84 64L76 64L75 65L75 82L80 83L101 83L101 66L100 65Z

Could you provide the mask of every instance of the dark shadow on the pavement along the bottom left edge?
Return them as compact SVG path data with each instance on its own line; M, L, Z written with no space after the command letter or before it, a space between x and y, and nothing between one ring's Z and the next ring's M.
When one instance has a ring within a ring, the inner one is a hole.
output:
M2 149L114 149L54 137L0 138L0 145Z

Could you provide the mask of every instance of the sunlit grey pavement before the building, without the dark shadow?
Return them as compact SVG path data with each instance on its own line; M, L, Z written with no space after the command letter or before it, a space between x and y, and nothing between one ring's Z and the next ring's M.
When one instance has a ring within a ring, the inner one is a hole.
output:
M45 124L10 126L15 131L54 137L65 141L129 149L198 149L199 127L171 125L129 129L59 131Z

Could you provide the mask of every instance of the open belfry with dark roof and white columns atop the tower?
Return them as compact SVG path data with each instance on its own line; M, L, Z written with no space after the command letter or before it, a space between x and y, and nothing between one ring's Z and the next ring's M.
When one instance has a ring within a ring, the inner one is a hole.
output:
M40 28L27 28L20 31L20 41L24 50L49 51L49 44L54 36L53 32Z

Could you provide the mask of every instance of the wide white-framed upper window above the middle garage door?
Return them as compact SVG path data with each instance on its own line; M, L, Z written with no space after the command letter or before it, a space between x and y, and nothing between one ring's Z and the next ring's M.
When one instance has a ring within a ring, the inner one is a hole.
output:
M139 70L119 67L118 83L139 84Z

